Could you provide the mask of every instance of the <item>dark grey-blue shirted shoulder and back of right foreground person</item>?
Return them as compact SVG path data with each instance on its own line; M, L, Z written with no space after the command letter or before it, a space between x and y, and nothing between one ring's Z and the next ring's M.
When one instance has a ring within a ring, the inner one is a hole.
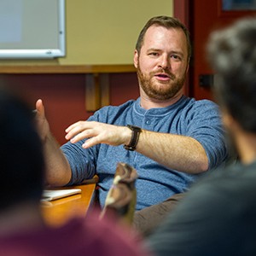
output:
M148 238L156 255L255 255L256 162L197 183Z

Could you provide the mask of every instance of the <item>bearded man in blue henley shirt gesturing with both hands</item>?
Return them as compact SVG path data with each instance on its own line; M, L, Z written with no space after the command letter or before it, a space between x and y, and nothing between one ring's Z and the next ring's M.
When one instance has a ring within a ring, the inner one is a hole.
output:
M179 20L148 20L134 53L140 97L70 125L68 142L61 148L38 100L47 183L79 184L97 175L103 207L117 163L127 163L138 174L134 226L144 236L151 232L172 209L168 198L183 195L197 177L220 166L227 156L218 106L183 95L190 55L189 32Z

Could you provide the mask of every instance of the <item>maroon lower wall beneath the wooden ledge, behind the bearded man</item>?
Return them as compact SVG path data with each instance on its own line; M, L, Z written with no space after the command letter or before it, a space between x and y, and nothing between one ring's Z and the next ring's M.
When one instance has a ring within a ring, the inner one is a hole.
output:
M88 119L85 109L85 74L1 74L0 83L18 90L32 105L41 98L57 141L65 143L65 129ZM119 105L138 96L136 73L109 75L110 104Z

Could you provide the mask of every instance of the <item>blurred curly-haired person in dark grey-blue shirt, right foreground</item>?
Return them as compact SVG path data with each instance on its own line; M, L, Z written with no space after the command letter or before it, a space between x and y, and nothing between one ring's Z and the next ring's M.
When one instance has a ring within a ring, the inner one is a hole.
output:
M240 161L190 189L149 238L157 255L256 255L256 19L212 32L207 49Z

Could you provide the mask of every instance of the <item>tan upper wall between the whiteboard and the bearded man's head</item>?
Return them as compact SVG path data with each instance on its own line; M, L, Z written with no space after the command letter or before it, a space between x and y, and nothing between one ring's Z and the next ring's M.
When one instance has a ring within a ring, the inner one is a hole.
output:
M67 55L5 64L131 64L138 33L154 15L173 15L173 0L66 0Z

